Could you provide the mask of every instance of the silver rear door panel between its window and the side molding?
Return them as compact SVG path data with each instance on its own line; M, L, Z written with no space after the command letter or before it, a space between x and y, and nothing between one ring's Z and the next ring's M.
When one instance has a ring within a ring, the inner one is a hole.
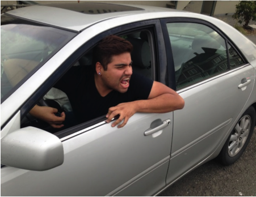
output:
M186 106L183 110L174 112L174 138L177 141L173 142L172 154L176 155L175 152L184 145L200 138L214 128L219 128L229 119L234 121L237 118L253 91L255 80L253 70L251 65L247 65L195 88L184 92L179 91L186 102ZM244 91L238 89L243 78L252 80L252 83ZM234 108L234 106L237 107ZM194 112L192 114L197 115L193 117L188 112ZM186 119L187 123L184 124L182 119ZM196 132L187 132L189 127L198 127L199 129ZM184 138L185 134L186 138Z

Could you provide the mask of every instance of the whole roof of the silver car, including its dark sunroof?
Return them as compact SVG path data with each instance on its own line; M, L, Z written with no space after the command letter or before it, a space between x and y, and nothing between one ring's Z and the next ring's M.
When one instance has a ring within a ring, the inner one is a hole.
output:
M59 3L18 8L7 14L72 31L111 18L156 12L184 12L170 8L112 3Z

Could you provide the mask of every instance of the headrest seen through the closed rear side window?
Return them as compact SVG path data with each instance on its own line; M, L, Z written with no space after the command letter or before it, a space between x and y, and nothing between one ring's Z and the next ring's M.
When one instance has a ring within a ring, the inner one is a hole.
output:
M220 43L212 37L196 36L191 47L198 54L215 53L220 48Z

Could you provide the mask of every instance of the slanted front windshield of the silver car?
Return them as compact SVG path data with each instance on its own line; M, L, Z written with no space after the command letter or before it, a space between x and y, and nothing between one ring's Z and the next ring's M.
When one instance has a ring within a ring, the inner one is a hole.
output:
M1 104L75 35L1 15Z

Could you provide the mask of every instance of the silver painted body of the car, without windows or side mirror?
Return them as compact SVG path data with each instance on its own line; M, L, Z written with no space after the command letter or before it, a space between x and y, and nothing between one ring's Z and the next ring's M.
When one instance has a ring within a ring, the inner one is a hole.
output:
M65 136L62 138L64 164L57 168L34 172L4 166L1 168L1 196L151 196L165 189L166 183L173 183L216 157L242 113L255 104L255 44L233 27L209 16L137 7L145 10L95 16L56 7L31 6L8 12L79 34L1 104L1 138L19 129L23 113L20 108L28 100L31 104L27 105L36 103L31 96L72 54L100 33L111 33L111 29L121 25L163 18L200 19L224 33L244 55L247 64L178 91L185 100L183 110L166 114L137 113L123 129L103 123ZM166 68L166 65L157 66L162 66L160 71ZM244 90L238 89L243 78L250 78L251 83ZM165 83L165 76L160 79ZM144 136L144 131L156 119L170 119L171 125L157 136Z

